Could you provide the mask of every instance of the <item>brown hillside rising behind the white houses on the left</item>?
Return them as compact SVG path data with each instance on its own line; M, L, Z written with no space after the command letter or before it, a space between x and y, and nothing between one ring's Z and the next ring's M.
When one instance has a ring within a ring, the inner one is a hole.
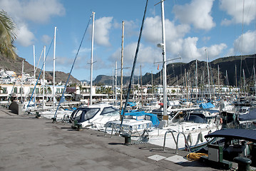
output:
M0 55L0 70L4 69L5 71L15 71L17 75L21 75L22 72L22 61L24 60L24 73L29 73L30 76L34 76L34 66L28 63L24 58L16 56L16 59L6 58ZM41 67L41 66L40 66ZM38 78L41 68L36 71L36 78ZM66 83L69 73L63 73L61 71L55 72L55 82ZM43 78L41 73L40 78ZM45 75L46 80L53 81L53 71L46 71ZM76 78L71 76L69 78L69 83L80 83Z

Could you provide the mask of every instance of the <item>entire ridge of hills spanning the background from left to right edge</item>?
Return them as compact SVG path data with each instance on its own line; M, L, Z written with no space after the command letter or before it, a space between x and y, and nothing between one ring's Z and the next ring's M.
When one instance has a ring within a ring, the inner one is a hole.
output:
M210 81L211 84L218 83L218 71L217 66L219 66L219 74L220 74L220 85L229 85L236 86L240 84L240 81L243 81L243 72L245 72L245 80L247 85L252 83L253 76L253 67L255 66L255 57L256 54L246 55L246 56L229 56L223 58L217 58L214 61L209 63L210 66ZM20 58L17 56L15 60L5 58L0 55L0 69L4 69L6 71L15 71L17 74L21 74L22 69L22 61L24 58ZM190 61L189 63L169 63L167 65L167 82L168 86L176 86L183 85L185 81L185 71L186 78L189 81L189 84L195 85L195 63L196 61ZM242 66L242 68L240 68ZM31 76L34 75L34 66L29 64L26 60L24 61L24 72L29 73ZM39 76L40 69L36 72L36 76ZM227 76L226 76L227 72ZM151 84L153 77L153 85L160 84L160 71L158 73L145 73L142 76L143 85ZM66 83L68 78L68 73L63 73L61 71L56 71L56 83L62 81ZM134 76L133 83L138 83L138 76ZM53 71L46 71L46 80L53 80ZM118 76L117 84L120 85L121 78ZM83 80L86 81L86 80ZM130 76L123 76L123 84L128 85L130 81ZM177 83L178 81L178 83ZM207 83L208 81L208 71L207 71L207 63L205 61L198 61L198 86ZM71 83L79 83L78 79L70 78ZM86 81L89 83L90 81ZM99 75L93 81L93 85L112 85L115 84L113 81L113 76ZM242 82L243 83L243 82Z

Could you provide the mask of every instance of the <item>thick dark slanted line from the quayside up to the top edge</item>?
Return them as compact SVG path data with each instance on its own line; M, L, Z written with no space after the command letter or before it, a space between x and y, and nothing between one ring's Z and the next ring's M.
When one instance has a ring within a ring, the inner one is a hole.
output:
M138 50L140 48L140 38L141 38L141 35L142 35L142 31L143 31L143 25L144 25L144 21L145 21L145 14L146 14L146 11L147 11L147 6L148 6L148 0L146 1L146 4L145 4L145 11L144 11L144 15L143 15L143 21L142 21L142 24L141 24L141 27L140 27L140 36L138 38L137 48L136 48L135 57L134 57L134 61L133 61L133 69L130 73L130 83L129 83L128 92L127 92L127 96L126 96L126 104L123 108L123 115L122 115L122 119L121 119L119 132L121 132L121 129L122 129L123 118L124 118L124 115L126 113L126 107L127 107L128 99L129 99L129 96L130 96L130 87L131 87L131 82L132 82L132 78L133 78L134 71L135 71L136 61L137 61L137 57L138 57Z

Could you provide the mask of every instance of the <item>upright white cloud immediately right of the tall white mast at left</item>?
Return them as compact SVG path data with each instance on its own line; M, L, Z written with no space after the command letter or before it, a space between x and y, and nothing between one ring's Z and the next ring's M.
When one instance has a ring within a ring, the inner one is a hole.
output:
M94 40L98 45L110 46L109 42L109 29L111 28L113 17L102 17L95 21L95 36Z

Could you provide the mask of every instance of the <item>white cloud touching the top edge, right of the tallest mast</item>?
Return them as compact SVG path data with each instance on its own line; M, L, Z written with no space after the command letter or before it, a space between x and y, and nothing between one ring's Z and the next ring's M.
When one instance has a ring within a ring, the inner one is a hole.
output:
M193 24L198 29L210 30L215 26L213 17L210 15L213 1L193 0L190 4L183 6L175 5L173 7L175 19L185 24Z

